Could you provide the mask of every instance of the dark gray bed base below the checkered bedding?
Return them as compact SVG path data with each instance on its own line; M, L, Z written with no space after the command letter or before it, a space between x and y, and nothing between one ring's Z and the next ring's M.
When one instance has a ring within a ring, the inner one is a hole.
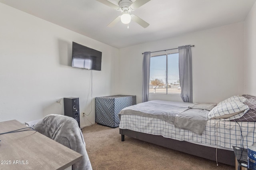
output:
M170 138L164 138L159 135L146 134L142 132L135 132L128 129L120 129L121 140L124 141L124 135L164 146L173 150L178 150L187 154L192 154L202 158L216 161L216 148L202 146L186 141L174 140ZM217 159L218 162L235 166L235 154L234 151L218 149L217 150Z

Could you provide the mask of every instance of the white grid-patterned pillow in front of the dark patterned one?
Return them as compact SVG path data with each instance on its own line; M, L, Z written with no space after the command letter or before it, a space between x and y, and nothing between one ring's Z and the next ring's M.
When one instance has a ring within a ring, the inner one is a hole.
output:
M249 107L244 103L234 100L230 102L220 102L208 113L208 119L238 119L249 110Z

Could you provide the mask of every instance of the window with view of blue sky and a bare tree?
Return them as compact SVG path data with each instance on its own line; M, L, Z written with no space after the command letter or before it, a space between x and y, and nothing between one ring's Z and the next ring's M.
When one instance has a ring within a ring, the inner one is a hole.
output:
M149 93L180 94L179 53L150 57Z

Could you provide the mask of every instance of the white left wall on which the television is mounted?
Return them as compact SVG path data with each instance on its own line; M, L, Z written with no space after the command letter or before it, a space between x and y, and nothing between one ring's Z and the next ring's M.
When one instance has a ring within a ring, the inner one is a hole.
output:
M82 127L94 124L94 98L115 93L119 50L2 3L0 11L0 121L64 115L63 97L79 97L80 116L90 113L91 72L71 67L77 42L102 51L102 71L92 71L92 112L80 117Z

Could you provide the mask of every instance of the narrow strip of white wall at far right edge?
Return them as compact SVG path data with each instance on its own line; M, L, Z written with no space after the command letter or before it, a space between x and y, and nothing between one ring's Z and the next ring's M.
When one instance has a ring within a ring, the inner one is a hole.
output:
M245 22L245 93L256 95L256 3L250 10Z

